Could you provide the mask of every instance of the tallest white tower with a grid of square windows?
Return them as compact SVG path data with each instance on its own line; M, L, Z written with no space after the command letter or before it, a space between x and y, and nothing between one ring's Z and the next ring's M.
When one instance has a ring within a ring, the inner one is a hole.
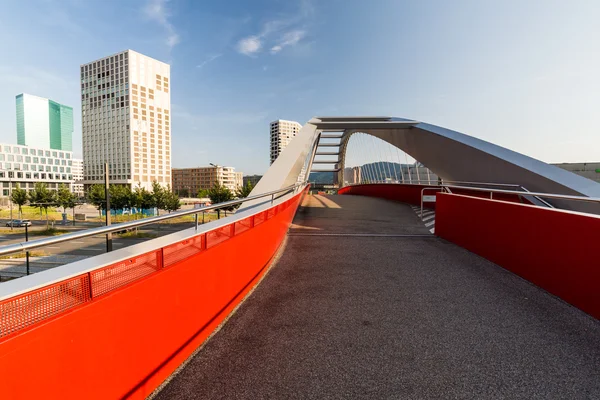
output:
M81 66L83 175L150 189L171 184L171 95L168 64L125 50Z

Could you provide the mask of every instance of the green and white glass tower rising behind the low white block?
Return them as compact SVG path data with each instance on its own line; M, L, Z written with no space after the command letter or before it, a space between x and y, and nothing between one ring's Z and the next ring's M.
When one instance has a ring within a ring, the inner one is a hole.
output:
M73 150L73 108L26 93L17 95L17 143Z

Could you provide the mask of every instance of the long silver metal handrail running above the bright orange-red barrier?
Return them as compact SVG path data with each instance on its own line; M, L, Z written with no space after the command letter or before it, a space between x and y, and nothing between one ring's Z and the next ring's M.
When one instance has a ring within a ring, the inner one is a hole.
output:
M30 242L20 242L20 243L9 244L9 245L0 247L0 256L5 255L5 254L10 254L10 253L28 251L31 249L48 246L51 244L68 242L69 240L73 240L73 239L80 239L80 238L85 238L85 237L89 237L89 236L114 233L114 232L122 231L125 229L131 229L131 228L136 228L139 226L150 225L150 224L154 224L157 222L169 220L172 218L182 217L182 216L186 216L186 215L192 215L192 214L197 215L201 212L231 207L231 206L234 206L237 204L244 203L246 201L261 199L263 197L268 197L268 196L271 196L271 204L272 204L273 201L275 200L275 195L278 195L283 192L285 192L285 194L287 194L287 193L289 193L291 191L295 191L297 188L299 188L301 186L305 186L305 185L306 185L306 182L301 182L301 183L297 183L295 185L287 186L282 189L273 190L271 192L266 192L266 193L262 193L262 194L255 195L255 196L248 196L243 199L235 199L235 200L225 201L223 203L212 204L210 206L204 206L204 207L200 207L200 208L193 208L191 210L175 211L175 212L172 212L169 214L159 215L156 217L148 217L148 218L143 218L143 219L139 219L136 221L122 222L122 223L114 224L114 225L101 226L99 228L86 229L83 231L67 233L64 235L53 236L53 237L45 238L45 239L33 240ZM196 223L197 223L197 220L196 220ZM196 227L197 227L197 225L196 225Z

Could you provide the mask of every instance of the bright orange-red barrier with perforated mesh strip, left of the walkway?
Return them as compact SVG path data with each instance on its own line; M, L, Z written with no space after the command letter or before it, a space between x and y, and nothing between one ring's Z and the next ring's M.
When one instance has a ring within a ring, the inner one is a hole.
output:
M304 193L1 302L0 398L146 398L257 282Z

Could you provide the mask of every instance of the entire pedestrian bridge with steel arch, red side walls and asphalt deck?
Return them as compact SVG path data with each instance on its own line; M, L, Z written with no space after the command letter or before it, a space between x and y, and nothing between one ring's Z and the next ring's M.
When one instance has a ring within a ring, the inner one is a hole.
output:
M342 187L310 194L333 131ZM345 185L357 132L441 181ZM2 398L599 397L582 179L417 121L313 119L234 215L0 284Z

